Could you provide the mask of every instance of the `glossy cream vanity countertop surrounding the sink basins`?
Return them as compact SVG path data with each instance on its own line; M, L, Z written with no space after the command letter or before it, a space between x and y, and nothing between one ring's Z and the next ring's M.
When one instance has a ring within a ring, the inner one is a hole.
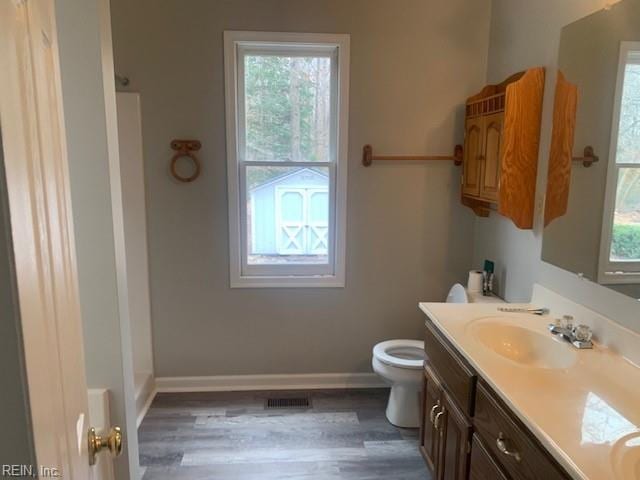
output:
M516 363L480 343L469 325L499 316L551 336L547 325L552 317L503 313L498 306L420 303L573 478L640 480L640 368L598 343L592 350L578 350L559 339L577 355L568 368Z

